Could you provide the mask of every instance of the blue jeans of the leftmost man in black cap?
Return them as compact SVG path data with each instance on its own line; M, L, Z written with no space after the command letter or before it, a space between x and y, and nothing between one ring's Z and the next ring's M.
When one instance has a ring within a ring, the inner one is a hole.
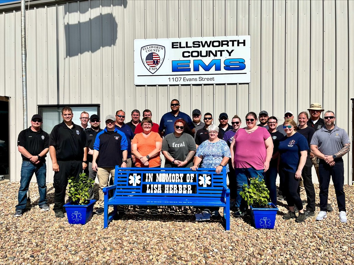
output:
M38 191L39 191L38 205L47 204L46 163L39 163L38 165L34 165L29 161L22 161L21 180L20 180L20 188L18 190L18 204L16 205L16 210L18 209L24 210L26 208L27 191L33 173L36 175L37 184L38 184Z

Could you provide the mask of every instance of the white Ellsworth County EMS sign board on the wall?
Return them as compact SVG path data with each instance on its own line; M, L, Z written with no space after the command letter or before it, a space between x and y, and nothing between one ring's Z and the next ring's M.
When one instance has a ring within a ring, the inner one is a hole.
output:
M251 82L251 37L134 40L134 84Z

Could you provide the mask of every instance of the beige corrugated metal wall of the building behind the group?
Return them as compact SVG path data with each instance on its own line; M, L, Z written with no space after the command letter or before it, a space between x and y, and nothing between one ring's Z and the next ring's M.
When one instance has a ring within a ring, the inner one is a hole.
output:
M353 1L90 0L31 8L27 19L29 118L38 104L99 103L101 116L149 108L159 122L178 98L183 112L199 108L215 120L224 111L244 120L248 111L265 109L282 121L285 110L320 102L352 134ZM14 181L23 116L20 28L19 11L0 13L0 95L11 97ZM134 85L134 39L225 35L251 35L250 84ZM52 181L50 167L49 161Z

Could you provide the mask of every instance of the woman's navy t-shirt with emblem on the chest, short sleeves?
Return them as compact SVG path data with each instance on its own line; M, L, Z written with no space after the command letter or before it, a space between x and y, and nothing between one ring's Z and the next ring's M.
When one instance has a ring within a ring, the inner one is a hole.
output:
M279 168L296 172L300 160L300 152L308 150L306 138L296 132L290 137L284 136L279 141L280 164Z

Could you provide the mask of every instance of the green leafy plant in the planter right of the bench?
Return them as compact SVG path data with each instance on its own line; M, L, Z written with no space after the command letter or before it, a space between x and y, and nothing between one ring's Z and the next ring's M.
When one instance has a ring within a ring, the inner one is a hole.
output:
M247 202L247 205L252 205L255 208L267 208L269 202L269 191L265 186L264 180L260 178L251 178L250 186L245 184L240 192L241 197Z

